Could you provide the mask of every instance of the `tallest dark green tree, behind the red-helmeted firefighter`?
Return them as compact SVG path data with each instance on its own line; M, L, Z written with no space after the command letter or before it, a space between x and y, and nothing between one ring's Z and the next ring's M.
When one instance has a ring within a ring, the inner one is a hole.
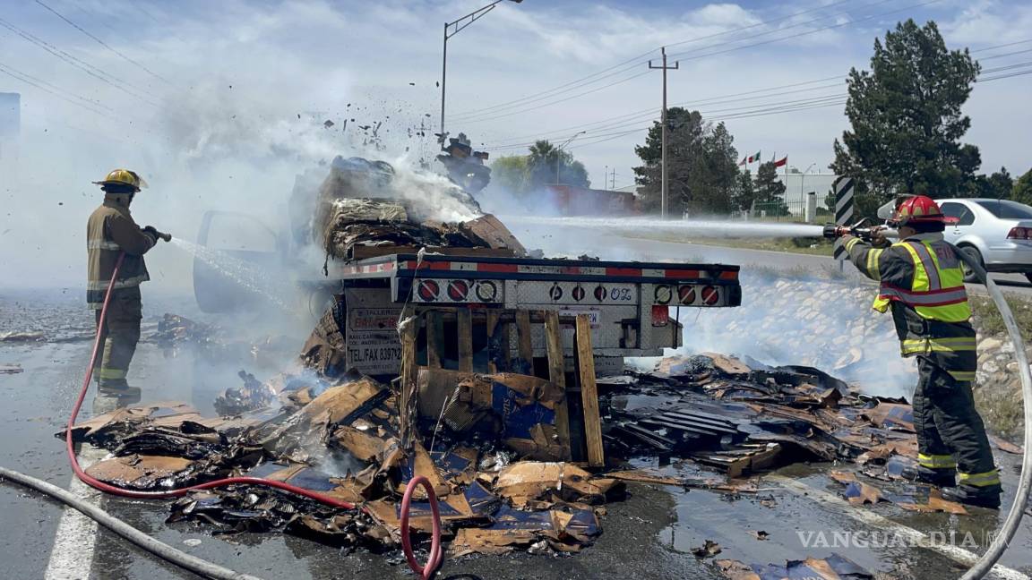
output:
M851 129L835 140L831 168L860 180L862 216L896 194L955 197L972 186L981 161L960 142L971 126L961 107L979 69L966 49L946 50L934 22L907 20L875 39L870 71L849 71Z

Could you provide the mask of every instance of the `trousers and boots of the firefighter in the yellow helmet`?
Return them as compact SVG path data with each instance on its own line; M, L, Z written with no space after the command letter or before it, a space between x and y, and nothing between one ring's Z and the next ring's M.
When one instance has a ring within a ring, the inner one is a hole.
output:
M139 389L130 388L126 382L129 363L136 352L136 343L139 342L139 323L142 318L139 287L121 288L111 292L103 325L100 320L101 311L95 312L100 328L101 354L93 368L93 377L97 381L97 402L94 410L106 412L139 401Z

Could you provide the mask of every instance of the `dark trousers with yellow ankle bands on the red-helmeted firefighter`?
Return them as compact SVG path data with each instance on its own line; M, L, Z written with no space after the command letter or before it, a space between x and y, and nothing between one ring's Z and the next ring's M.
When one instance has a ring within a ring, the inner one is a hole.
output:
M1000 476L971 383L957 381L924 356L917 357L917 373L913 426L918 462L933 470L957 470L962 485L998 488Z

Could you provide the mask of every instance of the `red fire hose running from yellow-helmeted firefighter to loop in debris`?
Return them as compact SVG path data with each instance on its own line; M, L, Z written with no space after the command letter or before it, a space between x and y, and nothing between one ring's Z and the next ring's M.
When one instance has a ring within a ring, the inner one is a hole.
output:
M333 506L334 508L341 508L344 510L354 510L361 509L365 513L369 513L364 508L358 508L354 504L348 502L342 502L335 500L328 495L323 495L321 493L316 493L314 491L303 489L282 481L272 481L268 479L262 479L257 477L230 477L223 478L215 481L209 481L206 483L200 483L197 485L191 485L189 487L181 487L179 489L170 489L168 491L135 491L131 489L123 489L121 487L116 487L104 483L97 478L89 475L83 468L78 464L78 457L75 455L74 444L72 443L71 428L75 424L75 419L78 417L78 411L83 407L83 400L86 399L86 393L90 388L90 380L93 378L93 366L97 361L97 354L100 350L100 336L102 334L102 329L104 323L107 321L107 305L111 300L111 291L115 288L115 281L119 276L119 269L122 267L122 260L125 258L125 252L119 254L118 261L115 262L115 270L111 272L111 280L107 283L107 291L104 293L104 303L100 309L100 321L97 324L97 335L93 341L93 354L90 356L90 364L86 367L86 378L83 379L83 388L78 392L78 398L75 400L75 406L71 410L71 416L68 417L68 425L65 428L65 444L68 450L68 461L71 463L71 469L75 473L75 477L80 479L84 483L99 489L105 493L111 493L114 495L122 495L125 497L137 497L137 498L164 498L164 497L179 497L185 495L190 491L198 489L211 489L213 487L223 487L226 485L263 485L265 487L273 487L276 489L282 489L284 491L289 491L296 495L301 495L321 502L328 506ZM426 567L420 567L419 562L412 552L412 545L409 539L409 501L412 492L415 490L417 485L423 485L427 490L427 495L429 496L430 510L433 513L433 539L430 548L430 558L426 562ZM372 515L372 514L370 514ZM413 572L420 575L424 580L429 579L433 572L441 566L442 555L441 555L441 515L438 509L438 500L433 494L433 489L429 485L426 478L422 476L417 476L409 482L409 486L406 489L405 497L401 502L401 546L405 549L405 557L409 561L409 567L412 568Z

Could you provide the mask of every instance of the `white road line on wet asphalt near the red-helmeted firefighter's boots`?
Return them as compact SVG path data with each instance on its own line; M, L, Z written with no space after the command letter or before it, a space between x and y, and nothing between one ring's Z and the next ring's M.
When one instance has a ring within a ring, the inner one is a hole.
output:
M775 481L785 489L799 495L807 495L819 501L821 504L840 508L840 513L843 515L849 516L861 523L866 523L877 529L891 530L898 534L900 537L913 541L915 544L924 548L938 552L954 561L966 566L972 566L978 560L979 556L974 552L965 550L959 546L945 544L943 542L932 542L931 538L923 531L918 531L912 527L903 525L902 523L897 523L889 518L879 516L870 510L859 510L838 495L834 495L815 487L810 487L805 483L800 483L799 481L788 479L784 476L772 475L764 479ZM990 575L996 578L1003 578L1005 580L1029 580L1029 577L1025 574L999 563L993 567Z

